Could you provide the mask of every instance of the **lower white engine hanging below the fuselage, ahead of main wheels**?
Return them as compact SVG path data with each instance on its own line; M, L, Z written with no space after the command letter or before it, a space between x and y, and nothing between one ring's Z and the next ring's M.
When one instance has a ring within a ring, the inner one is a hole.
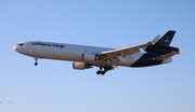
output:
M86 62L74 61L73 62L73 68L77 69L77 70L84 70L84 69L92 68L92 67L89 64L86 64Z

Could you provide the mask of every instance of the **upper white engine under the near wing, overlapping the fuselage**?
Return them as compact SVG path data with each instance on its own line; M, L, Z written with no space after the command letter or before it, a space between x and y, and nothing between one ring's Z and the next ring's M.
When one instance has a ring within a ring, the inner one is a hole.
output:
M99 56L95 54L82 54L82 60L83 61L94 61L94 60L99 60Z

